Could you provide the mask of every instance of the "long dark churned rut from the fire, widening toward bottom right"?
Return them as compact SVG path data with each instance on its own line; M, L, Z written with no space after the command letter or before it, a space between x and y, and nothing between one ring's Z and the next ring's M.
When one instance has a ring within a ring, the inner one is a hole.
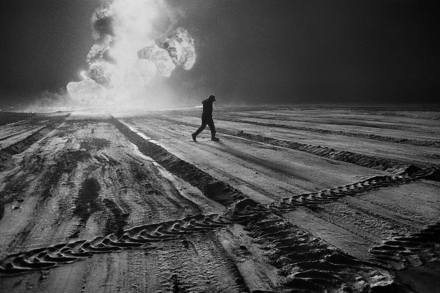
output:
M254 242L263 246L270 263L285 277L283 289L326 292L349 287L359 291L376 288L405 292L380 264L361 261L330 246L293 225L276 211L247 198L230 185L143 139L117 119L114 119L114 124L145 155L201 189L204 195L227 206L224 217L245 226Z

